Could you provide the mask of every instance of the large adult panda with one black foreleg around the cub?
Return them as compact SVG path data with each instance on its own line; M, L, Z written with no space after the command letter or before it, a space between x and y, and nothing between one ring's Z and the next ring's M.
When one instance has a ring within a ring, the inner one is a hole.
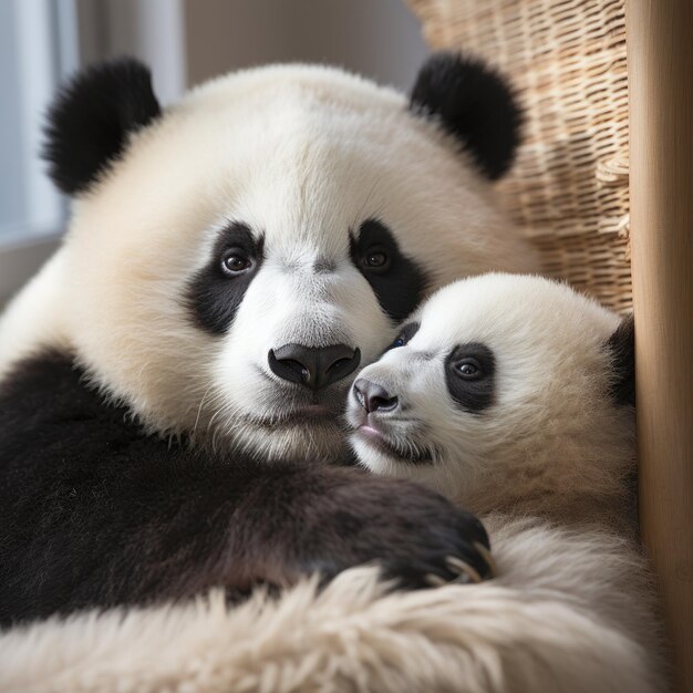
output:
M46 144L70 229L0 322L0 620L373 559L410 587L451 555L486 571L473 517L322 463L356 368L427 291L532 265L488 186L517 125L455 55L408 104L314 66L166 111L135 61L77 75Z

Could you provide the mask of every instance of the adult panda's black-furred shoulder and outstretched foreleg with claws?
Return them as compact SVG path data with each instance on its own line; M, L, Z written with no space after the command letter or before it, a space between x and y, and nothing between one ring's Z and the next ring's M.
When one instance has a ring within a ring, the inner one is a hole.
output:
M85 607L240 598L379 560L403 587L489 568L482 525L414 484L214 457L146 436L58 353L0 384L0 624Z

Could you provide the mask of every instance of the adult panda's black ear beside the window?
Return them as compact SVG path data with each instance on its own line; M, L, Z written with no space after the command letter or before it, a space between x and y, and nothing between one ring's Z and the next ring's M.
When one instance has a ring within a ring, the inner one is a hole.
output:
M157 117L152 75L123 58L86 68L55 97L48 114L43 158L55 185L81 193L123 152L131 133Z

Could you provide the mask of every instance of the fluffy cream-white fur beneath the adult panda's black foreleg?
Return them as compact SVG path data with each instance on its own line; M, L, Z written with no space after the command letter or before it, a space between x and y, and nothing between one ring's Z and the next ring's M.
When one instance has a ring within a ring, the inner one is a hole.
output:
M358 568L322 592L307 580L235 609L214 592L15 628L0 635L0 692L661 691L644 648L586 609L579 589L542 577L562 565L571 579L566 537L538 545L537 531L525 546L497 541L503 575L482 585L385 593ZM576 565L593 562L591 549L573 541Z

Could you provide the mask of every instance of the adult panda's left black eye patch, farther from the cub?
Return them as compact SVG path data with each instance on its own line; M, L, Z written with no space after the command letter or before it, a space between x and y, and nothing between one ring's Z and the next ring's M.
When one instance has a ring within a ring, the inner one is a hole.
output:
M224 334L238 311L263 259L263 237L250 227L229 223L215 241L210 258L193 277L186 302L196 324Z

